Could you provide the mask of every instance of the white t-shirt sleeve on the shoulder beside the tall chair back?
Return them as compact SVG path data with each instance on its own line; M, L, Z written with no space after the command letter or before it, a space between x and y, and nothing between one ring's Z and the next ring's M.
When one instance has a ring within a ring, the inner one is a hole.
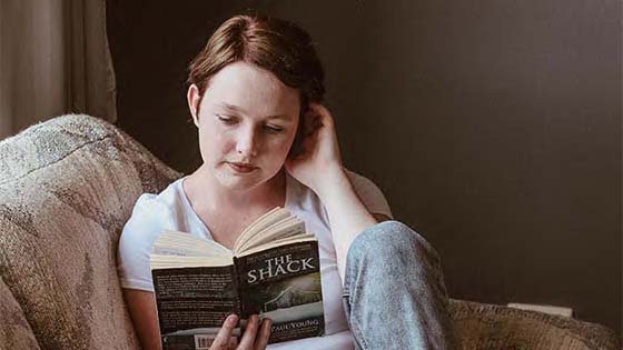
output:
M154 242L167 226L165 206L155 194L139 197L121 232L117 251L117 271L122 288L154 291L149 254Z

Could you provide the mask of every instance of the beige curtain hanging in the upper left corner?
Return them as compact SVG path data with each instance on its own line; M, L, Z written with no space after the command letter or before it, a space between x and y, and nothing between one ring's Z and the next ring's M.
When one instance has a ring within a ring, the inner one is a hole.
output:
M0 139L68 112L116 121L105 0L0 0Z

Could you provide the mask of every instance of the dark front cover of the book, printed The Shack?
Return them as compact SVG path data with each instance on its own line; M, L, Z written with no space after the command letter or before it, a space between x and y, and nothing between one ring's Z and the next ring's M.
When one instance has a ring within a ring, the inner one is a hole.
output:
M325 331L317 242L236 259L243 314L273 321L269 343L322 337ZM244 324L244 322L243 322Z

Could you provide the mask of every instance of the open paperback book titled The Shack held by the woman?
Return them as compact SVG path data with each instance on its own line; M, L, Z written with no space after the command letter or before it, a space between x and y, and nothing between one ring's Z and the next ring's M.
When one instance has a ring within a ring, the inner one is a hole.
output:
M269 343L325 333L318 242L286 209L254 221L233 250L164 231L150 262L165 350L208 349L233 312L231 346L254 313L273 321Z

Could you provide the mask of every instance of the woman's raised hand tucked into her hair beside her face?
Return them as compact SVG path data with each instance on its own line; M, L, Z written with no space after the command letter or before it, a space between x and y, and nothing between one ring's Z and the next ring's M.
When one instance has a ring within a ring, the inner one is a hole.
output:
M300 152L286 161L286 170L316 193L336 176L344 176L342 157L330 112L310 103L304 120Z

